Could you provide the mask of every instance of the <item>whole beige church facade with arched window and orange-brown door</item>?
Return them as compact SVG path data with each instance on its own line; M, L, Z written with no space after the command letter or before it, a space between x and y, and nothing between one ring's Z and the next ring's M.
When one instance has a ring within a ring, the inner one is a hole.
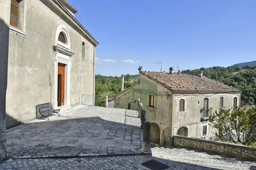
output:
M6 128L35 119L35 105L79 104L94 95L99 42L66 0L3 0L9 13Z

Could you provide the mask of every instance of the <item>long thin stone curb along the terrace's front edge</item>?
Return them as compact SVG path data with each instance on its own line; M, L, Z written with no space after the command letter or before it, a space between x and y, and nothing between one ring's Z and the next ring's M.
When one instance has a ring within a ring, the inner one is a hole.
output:
M76 158L76 157L99 157L99 156L129 156L129 155L152 155L151 152L121 152L121 153L85 153L85 154L60 154L60 155L27 155L9 156L10 159L39 159L39 158Z

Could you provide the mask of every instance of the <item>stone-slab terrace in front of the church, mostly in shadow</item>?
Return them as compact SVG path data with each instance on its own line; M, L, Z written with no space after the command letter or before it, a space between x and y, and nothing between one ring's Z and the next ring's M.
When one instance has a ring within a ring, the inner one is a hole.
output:
M137 111L77 105L59 113L6 130L9 157L141 153Z

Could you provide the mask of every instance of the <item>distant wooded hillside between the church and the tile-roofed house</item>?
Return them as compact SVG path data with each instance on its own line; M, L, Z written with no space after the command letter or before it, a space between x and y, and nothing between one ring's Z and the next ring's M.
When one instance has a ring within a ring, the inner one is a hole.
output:
M126 74L124 79L124 88L128 88L135 83L138 82L137 75ZM121 91L121 77L113 77L113 76L102 76L95 75L95 94L102 95L107 92L111 92L111 94L117 94Z

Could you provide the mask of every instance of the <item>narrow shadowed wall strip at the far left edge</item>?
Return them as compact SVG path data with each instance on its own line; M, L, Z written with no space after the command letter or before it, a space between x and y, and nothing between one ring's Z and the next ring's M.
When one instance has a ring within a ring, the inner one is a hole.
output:
M0 0L0 162L8 159L6 148L6 88L11 0Z

